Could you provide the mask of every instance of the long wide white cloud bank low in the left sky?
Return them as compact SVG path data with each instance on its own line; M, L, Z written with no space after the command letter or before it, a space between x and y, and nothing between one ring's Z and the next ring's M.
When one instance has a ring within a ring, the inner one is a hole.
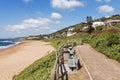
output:
M30 28L40 28L40 29L48 29L48 24L51 23L51 20L48 18L37 18L37 19L26 19L23 20L21 24L16 25L8 25L8 31L19 31Z

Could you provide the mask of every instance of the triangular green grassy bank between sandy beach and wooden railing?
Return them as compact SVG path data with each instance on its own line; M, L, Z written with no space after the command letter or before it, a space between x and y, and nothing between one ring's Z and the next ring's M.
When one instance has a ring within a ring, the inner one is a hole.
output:
M50 80L51 70L55 62L55 53L52 52L35 61L20 74L15 75L13 80Z

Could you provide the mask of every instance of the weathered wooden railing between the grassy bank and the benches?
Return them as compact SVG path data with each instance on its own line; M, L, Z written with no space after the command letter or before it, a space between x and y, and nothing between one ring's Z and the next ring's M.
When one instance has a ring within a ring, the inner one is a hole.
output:
M66 44L68 45L68 44ZM65 45L63 45L65 46ZM64 80L64 76L67 74L62 73L62 65L64 65L64 59L63 59L63 46L60 46L58 48L58 51L56 53L56 61L54 65L54 69L51 74L51 80ZM61 72L59 72L61 71ZM61 75L60 75L61 73ZM68 80L67 77L65 80Z

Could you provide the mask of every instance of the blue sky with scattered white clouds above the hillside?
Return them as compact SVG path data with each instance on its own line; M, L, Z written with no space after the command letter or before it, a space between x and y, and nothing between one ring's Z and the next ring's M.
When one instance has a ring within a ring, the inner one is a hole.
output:
M120 0L0 0L0 38L49 34L65 27L120 14Z

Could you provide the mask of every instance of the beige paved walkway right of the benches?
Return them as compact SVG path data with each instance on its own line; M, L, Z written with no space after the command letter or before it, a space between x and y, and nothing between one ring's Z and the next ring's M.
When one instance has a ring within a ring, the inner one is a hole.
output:
M120 80L120 63L108 59L87 44L76 49L85 62L92 80Z

